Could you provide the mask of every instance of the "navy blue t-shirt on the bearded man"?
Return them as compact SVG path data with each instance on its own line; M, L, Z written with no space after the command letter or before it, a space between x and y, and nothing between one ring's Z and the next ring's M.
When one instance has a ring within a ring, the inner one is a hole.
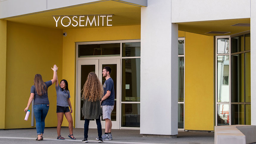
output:
M102 106L113 106L115 105L115 90L114 90L114 82L112 78L107 79L104 84L103 84L103 90L104 90L104 94L103 96L105 96L105 94L107 93L107 90L110 91L110 96L105 99L104 101L102 101L101 105Z

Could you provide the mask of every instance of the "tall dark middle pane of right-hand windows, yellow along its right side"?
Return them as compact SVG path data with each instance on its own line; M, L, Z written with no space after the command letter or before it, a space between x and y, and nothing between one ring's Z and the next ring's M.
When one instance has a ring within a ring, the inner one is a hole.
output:
M244 102L244 54L231 57L231 102Z

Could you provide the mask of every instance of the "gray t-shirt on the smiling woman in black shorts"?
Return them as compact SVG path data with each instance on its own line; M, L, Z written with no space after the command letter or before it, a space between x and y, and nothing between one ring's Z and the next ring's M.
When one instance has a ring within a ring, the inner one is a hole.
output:
M56 87L56 93L57 93L57 106L61 107L68 107L68 98L70 98L69 90L62 89L60 85Z

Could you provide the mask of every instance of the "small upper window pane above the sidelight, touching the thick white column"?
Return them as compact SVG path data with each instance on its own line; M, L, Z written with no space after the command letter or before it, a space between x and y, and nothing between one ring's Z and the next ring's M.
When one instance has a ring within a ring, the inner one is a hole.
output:
M140 57L141 42L122 43L122 56L123 57Z

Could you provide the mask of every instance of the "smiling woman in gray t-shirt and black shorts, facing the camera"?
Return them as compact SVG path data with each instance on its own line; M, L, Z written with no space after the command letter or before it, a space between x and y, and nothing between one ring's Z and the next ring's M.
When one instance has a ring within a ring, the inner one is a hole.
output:
M63 115L65 115L65 117L68 120L68 128L69 128L69 135L68 137L71 138L72 140L75 140L75 137L73 136L73 118L71 113L73 112L72 110L72 106L71 106L71 102L69 100L70 98L70 94L69 94L69 90L68 90L68 82L63 79L60 81L58 81L58 77L56 80L56 93L57 93L57 118L58 118L58 125L57 125L57 134L58 140L65 140L64 137L62 137L60 135L60 129L61 129L61 124L63 121ZM69 107L70 110L69 110Z

